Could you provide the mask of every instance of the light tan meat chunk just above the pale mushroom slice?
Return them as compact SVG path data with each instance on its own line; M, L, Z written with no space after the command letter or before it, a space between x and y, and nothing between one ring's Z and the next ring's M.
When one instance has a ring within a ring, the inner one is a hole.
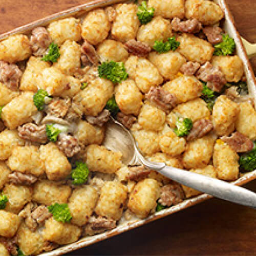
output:
M71 105L70 98L60 99L54 98L50 104L48 104L46 112L47 114L56 116L58 118L63 118L69 111Z

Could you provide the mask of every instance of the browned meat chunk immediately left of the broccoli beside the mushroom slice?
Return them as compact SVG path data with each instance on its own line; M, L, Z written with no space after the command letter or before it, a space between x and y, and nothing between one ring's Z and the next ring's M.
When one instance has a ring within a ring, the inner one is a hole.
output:
M34 123L26 123L18 127L18 135L24 140L45 143L48 141L46 135L46 125L37 126Z

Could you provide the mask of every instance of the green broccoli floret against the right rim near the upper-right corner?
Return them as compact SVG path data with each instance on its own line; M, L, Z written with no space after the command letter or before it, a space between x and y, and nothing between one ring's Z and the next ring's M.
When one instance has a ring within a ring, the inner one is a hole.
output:
M231 38L228 34L222 35L222 42L214 46L215 51L214 55L221 56L221 55L231 55L236 48L236 44L234 44L234 39Z

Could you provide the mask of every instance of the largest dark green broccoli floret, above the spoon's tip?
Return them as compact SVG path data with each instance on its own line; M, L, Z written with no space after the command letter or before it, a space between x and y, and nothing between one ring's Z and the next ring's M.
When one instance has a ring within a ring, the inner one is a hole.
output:
M98 67L99 77L111 80L114 83L119 83L128 77L125 71L123 62L103 62Z

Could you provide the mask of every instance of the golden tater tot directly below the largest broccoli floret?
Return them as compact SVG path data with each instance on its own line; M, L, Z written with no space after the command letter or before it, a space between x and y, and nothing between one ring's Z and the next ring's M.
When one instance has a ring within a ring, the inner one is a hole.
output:
M85 115L97 116L113 93L114 86L111 81L96 78L74 97L74 102L80 106Z

